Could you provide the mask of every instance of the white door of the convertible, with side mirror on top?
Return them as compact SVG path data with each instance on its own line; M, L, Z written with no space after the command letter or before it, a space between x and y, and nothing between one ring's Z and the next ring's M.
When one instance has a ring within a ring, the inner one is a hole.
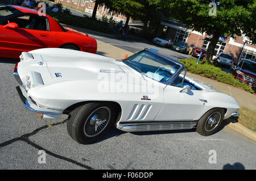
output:
M183 73L184 75L184 73ZM203 111L205 103L202 101L201 90L181 92L183 87L167 85L163 90L164 104L156 116L159 121L191 121ZM201 99L201 100L200 100Z

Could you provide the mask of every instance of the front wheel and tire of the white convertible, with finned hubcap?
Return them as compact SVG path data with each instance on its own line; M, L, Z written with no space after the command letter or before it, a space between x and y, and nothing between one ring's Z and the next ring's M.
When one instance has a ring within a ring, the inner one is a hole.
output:
M69 114L68 134L79 144L90 144L109 132L115 117L111 104L84 104Z

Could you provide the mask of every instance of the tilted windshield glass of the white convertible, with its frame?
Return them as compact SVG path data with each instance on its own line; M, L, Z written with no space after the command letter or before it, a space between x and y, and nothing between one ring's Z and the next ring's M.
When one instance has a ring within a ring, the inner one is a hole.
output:
M181 68L179 63L147 50L136 53L122 62L158 82L168 81Z

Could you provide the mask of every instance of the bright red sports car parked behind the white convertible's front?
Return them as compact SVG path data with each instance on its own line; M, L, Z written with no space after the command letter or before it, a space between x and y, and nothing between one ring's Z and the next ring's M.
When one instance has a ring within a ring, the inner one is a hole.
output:
M39 48L68 48L96 53L97 42L61 26L49 15L20 6L0 6L0 57L19 58Z

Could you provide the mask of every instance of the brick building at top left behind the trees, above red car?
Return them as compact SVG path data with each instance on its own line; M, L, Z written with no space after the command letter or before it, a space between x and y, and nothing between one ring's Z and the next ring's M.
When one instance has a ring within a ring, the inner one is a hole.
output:
M92 14L95 6L95 1L87 1L87 0L55 0L56 3L61 3L64 6L72 7L73 9L81 10L85 13ZM98 5L96 16L101 18L102 16L106 16L108 19L112 18L116 22L122 21L125 23L126 16L122 14L122 12L114 12L110 11L105 7L105 5ZM131 19L130 19L131 21Z

